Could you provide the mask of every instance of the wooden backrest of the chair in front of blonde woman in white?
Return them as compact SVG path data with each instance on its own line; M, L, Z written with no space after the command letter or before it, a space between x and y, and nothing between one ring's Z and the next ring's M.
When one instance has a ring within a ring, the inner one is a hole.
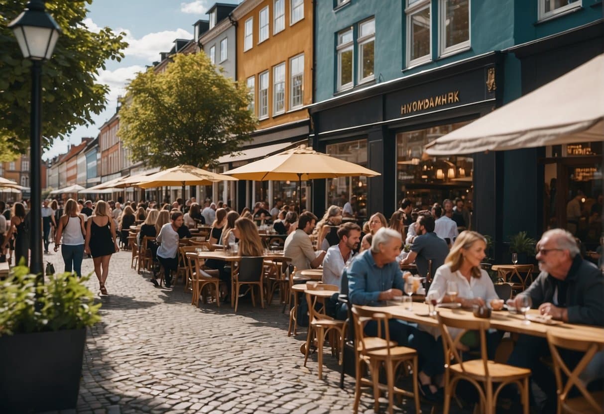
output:
M480 356L483 360L484 374L489 376L489 367L487 362L489 357L487 355L487 340L486 331L489 329L488 319L467 319L451 316L443 316L442 313L438 313L440 334L443 337L443 351L445 351L445 367L450 366L452 363L460 364L461 371L466 372L464 368L463 359L459 353L457 346L461 342L461 337L468 331L478 331L480 336ZM453 338L449 332L449 328L457 328L461 330L460 333Z

